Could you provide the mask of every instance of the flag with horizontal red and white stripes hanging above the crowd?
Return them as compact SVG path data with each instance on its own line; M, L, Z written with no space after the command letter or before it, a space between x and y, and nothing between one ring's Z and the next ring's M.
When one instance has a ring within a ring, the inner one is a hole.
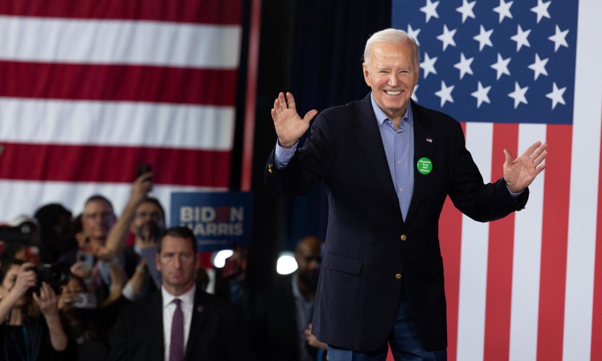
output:
M225 190L242 0L0 2L0 222L95 193L120 211L139 163L169 209ZM169 213L168 213L169 214Z

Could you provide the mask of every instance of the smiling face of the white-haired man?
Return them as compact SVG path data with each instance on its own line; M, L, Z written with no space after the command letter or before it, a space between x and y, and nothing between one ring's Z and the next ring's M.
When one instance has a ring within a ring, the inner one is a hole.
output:
M376 104L391 120L400 120L418 82L414 46L409 41L376 43L363 68Z

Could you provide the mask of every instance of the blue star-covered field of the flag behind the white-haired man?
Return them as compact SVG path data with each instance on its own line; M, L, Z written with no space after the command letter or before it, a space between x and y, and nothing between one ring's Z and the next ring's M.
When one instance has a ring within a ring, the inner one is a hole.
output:
M393 0L420 45L414 98L458 121L573 124L577 0Z

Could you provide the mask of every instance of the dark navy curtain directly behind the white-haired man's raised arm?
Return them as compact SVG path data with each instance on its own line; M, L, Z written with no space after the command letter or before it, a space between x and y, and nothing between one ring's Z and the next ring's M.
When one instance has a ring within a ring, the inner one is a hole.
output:
M290 91L299 114L363 99L370 91L362 75L365 42L390 26L390 0L297 1ZM283 250L292 250L304 235L326 235L327 199L321 182L305 197L283 199L282 210Z

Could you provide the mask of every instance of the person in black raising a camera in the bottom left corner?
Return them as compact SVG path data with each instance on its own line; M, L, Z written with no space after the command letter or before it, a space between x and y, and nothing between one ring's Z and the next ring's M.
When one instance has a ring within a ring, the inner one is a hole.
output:
M5 320L0 325L0 360L58 360L67 350L57 294L46 282L38 284L32 268L14 259L0 266L0 320Z

